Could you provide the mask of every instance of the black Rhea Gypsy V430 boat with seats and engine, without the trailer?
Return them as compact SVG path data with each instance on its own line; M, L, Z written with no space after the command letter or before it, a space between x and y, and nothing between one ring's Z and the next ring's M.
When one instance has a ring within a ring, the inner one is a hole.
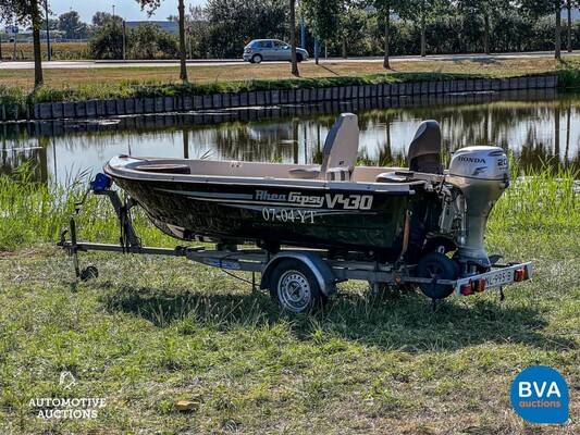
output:
M254 243L274 252L281 246L357 251L395 261L411 216L407 258L462 248L461 259L489 266L482 238L491 206L509 183L504 151L466 148L444 173L441 128L427 121L409 147L408 169L357 166L358 134L357 116L341 114L321 165L121 154L104 172L158 228L183 240ZM461 209L466 196L469 211ZM466 221L474 221L469 231Z

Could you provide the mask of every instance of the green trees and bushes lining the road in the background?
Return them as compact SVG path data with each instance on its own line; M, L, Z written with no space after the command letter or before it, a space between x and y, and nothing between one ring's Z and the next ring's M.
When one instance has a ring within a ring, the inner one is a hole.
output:
M163 0L135 1L152 13ZM571 49L569 16L570 11L578 7L580 0L208 0L206 8L190 8L186 14L184 0L178 0L175 20L178 22L180 38L176 50L181 59L181 78L187 80L187 36L198 54L207 53L215 58L239 57L240 48L250 39L288 37L293 46L293 73L298 75L295 61L298 14L306 18L310 41L317 36L333 54L340 52L343 57L353 52L353 47L357 48L357 54L377 54L381 50L385 69L390 67L392 53L490 53L492 48L544 48L545 29L552 33L552 47L559 59L563 33ZM42 12L46 8L47 0L0 0L0 18L15 16L20 23L33 27L35 62L38 65L35 74L37 86L42 83L39 30L45 25ZM568 11L567 32L563 32L563 10ZM111 32L120 26L114 20L107 24L107 15L95 15L92 28L100 27L102 30L107 26L116 27L109 28L108 36L103 32L96 33L91 47L99 55L121 58L118 52L108 54L97 50L97 47L109 46L109 50L123 47L115 39L119 33ZM541 20L546 15L551 15L553 22ZM74 11L60 15L59 26L73 37L83 33L88 35L90 30L90 26L81 23ZM152 28L139 32L144 41L153 34ZM541 44L534 42L538 41L536 35L543 38ZM172 46L169 40L160 39L157 35L155 44L164 45L173 54L174 44ZM140 47L136 42L131 44L131 50L145 51L146 54L153 50L152 41L149 47L145 42Z

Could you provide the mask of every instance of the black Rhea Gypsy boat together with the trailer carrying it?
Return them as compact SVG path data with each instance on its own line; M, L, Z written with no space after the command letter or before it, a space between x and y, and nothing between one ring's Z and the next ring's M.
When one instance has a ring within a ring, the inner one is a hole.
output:
M490 212L509 186L508 159L493 146L462 148L441 163L439 123L424 121L408 167L357 166L357 116L343 113L326 137L320 165L131 157L120 154L91 183L122 222L119 246L60 246L75 258L89 249L185 256L222 269L261 273L261 288L292 311L320 308L345 279L375 290L418 285L433 301L468 296L531 277L532 263L498 264L488 256ZM118 185L128 195L122 203ZM145 248L128 210L139 206L163 233L201 247ZM240 249L255 245L258 249ZM503 297L503 290L502 290Z

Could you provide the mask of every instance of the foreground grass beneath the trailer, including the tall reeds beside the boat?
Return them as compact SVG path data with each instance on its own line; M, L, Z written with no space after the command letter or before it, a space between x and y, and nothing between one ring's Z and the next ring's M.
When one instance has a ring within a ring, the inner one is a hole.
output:
M579 433L578 174L523 175L486 239L490 252L535 262L533 281L507 288L506 302L491 293L432 313L420 294L377 297L346 283L316 315L289 315L183 259L87 253L84 264L101 274L77 283L71 260L49 245L74 208L70 189L3 177L0 432ZM81 237L113 241L109 206L95 199ZM139 227L147 245L166 244ZM566 425L528 424L513 411L511 381L534 364L567 380ZM59 383L62 371L74 386ZM107 403L91 420L44 421L30 399L45 397ZM177 400L197 408L181 413Z

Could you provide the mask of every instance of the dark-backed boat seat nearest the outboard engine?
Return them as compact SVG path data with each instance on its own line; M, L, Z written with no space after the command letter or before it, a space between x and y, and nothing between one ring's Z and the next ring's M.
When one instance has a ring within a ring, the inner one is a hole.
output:
M441 164L441 127L434 120L423 121L409 145L409 170L443 174Z

